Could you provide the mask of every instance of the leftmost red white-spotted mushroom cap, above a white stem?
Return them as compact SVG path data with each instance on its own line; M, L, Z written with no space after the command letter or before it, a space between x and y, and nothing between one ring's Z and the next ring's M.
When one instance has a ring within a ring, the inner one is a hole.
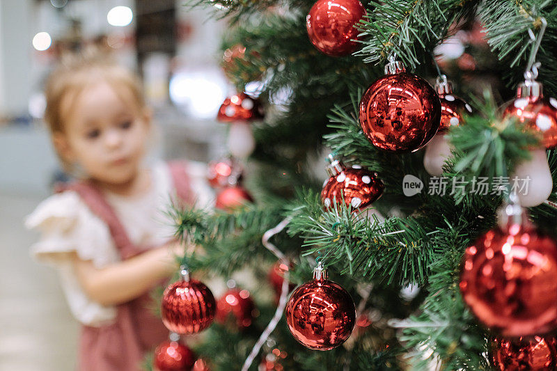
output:
M217 114L217 120L223 123L247 122L262 118L263 111L259 100L244 93L226 98Z

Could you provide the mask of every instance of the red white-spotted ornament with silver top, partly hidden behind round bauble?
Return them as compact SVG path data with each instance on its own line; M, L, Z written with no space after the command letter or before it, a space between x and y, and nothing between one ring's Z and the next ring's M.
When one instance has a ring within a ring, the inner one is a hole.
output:
M441 101L441 123L439 124L438 134L446 132L450 127L458 126L462 123L464 112L472 113L472 107L464 100L453 95L453 84L447 81L447 77L442 75L437 78L435 90Z

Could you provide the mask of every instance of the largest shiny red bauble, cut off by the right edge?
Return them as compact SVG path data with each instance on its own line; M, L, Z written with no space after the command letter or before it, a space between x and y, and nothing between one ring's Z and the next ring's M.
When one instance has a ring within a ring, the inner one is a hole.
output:
M557 324L557 244L526 225L489 230L466 248L460 290L480 322L505 337Z

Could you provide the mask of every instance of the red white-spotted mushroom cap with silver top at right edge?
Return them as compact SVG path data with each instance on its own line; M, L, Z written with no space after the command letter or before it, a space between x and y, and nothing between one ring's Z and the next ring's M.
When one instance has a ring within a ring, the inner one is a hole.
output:
M544 97L538 81L526 79L519 85L517 97L508 104L503 117L515 117L528 129L538 132L545 148L557 145L557 100Z

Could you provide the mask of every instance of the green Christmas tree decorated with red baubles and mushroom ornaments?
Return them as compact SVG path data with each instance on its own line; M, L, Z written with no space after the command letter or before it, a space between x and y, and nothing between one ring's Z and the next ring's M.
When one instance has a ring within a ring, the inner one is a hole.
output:
M191 276L258 282L256 316L217 300L212 370L557 368L554 2L193 6L230 22L220 118L265 110L219 210L170 210Z

